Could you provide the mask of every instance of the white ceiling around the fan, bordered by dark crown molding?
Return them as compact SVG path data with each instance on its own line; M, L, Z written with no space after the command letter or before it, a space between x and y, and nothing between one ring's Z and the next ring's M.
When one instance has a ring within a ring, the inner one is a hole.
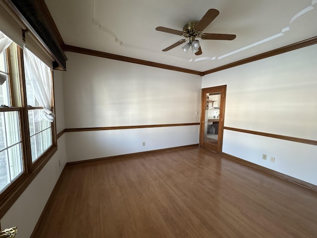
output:
M45 0L67 45L206 71L317 36L317 0ZM184 53L184 39L156 31L183 29L208 9L220 14L204 33L232 41L200 40L203 54ZM258 44L260 43L260 44ZM228 56L226 56L229 54ZM225 57L223 57L225 56Z

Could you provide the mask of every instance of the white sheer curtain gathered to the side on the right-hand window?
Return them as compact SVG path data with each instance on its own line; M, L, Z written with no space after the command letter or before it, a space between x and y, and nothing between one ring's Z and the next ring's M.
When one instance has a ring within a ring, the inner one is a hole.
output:
M25 48L23 53L25 77L31 82L34 96L43 108L42 117L53 122L55 115L51 112L53 87L51 69L28 49Z

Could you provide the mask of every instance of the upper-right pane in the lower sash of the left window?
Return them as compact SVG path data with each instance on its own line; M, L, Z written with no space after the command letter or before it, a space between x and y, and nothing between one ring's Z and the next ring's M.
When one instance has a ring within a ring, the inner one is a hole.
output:
M6 137L8 146L21 141L20 137L20 123L18 112L5 112L4 113Z

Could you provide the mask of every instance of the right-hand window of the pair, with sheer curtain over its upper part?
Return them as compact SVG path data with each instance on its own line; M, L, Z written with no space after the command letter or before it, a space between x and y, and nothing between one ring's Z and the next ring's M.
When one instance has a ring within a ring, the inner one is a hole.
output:
M52 145L52 71L27 49L24 60L32 162L35 162Z

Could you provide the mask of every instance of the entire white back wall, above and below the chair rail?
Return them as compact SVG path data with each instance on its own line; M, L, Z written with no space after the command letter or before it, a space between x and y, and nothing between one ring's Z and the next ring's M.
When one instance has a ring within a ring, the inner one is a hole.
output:
M66 128L199 122L201 76L69 52L67 58ZM197 125L66 135L68 161L198 142Z

